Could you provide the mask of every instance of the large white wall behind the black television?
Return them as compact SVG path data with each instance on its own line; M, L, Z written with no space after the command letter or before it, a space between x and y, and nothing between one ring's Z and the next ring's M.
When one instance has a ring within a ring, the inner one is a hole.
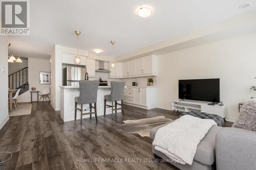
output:
M158 55L158 106L171 109L179 79L220 78L221 101L228 118L237 118L238 103L256 93L256 33Z

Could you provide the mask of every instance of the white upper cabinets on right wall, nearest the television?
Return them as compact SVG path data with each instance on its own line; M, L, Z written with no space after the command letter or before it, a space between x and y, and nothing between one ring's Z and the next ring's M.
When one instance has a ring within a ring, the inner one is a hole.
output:
M123 77L157 76L157 56L150 55L123 62Z

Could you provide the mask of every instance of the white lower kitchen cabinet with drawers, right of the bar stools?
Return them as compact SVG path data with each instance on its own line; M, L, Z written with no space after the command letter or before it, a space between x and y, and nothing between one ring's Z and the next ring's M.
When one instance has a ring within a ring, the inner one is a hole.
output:
M145 109L156 108L157 87L127 87L123 92L123 102L127 105Z

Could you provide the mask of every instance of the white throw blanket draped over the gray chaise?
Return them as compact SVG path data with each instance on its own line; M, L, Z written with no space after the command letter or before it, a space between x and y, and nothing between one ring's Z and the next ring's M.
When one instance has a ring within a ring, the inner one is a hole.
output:
M153 145L170 159L181 164L192 164L197 151L197 145L209 129L217 125L212 119L202 119L184 115L174 122L160 128Z

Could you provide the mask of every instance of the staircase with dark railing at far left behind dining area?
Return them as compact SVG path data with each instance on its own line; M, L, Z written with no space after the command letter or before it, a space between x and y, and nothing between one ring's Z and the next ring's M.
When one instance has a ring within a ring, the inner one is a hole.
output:
M8 76L9 88L20 89L19 95L29 90L28 67L20 69Z

